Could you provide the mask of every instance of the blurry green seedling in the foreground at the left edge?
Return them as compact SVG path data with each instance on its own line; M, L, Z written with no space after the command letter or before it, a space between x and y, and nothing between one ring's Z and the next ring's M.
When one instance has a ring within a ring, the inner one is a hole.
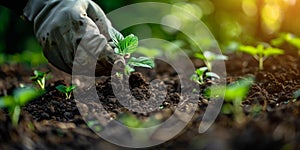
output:
M7 108L13 126L17 126L20 118L21 107L40 96L41 92L35 88L15 89L13 95L0 98L0 108Z

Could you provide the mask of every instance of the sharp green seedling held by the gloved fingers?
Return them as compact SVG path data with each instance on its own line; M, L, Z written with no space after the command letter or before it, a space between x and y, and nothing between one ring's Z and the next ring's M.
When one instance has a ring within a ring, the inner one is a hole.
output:
M134 53L138 47L137 36L130 34L124 37L121 33L115 30L110 30L110 36L116 45L114 52L129 59L124 69L124 73L126 75L135 71L134 67L154 68L154 61L148 57L130 57L130 55Z

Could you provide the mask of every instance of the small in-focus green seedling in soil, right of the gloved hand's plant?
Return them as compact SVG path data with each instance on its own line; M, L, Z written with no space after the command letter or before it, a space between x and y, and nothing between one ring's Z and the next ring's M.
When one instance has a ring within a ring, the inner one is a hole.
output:
M191 80L200 85L204 84L204 81L207 78L220 79L220 76L218 76L216 73L209 72L207 67L201 67L196 69L195 73L191 76Z

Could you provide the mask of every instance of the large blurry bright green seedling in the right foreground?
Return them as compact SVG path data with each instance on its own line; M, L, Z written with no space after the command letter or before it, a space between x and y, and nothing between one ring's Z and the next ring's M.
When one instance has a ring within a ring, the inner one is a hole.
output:
M241 103L246 98L253 82L254 79L248 77L227 86L212 86L205 94L215 98L221 98L224 95L225 104L222 107L222 112L224 114L233 114L235 120L238 123L242 123L245 118Z

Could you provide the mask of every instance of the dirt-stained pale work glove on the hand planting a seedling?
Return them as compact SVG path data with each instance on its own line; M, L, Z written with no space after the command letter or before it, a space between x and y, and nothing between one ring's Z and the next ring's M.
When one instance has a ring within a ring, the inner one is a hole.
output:
M24 16L33 21L47 60L60 70L72 73L76 64L85 68L78 74L88 74L97 62L96 75L109 75L114 63L125 64L108 44L115 29L91 0L29 0Z

